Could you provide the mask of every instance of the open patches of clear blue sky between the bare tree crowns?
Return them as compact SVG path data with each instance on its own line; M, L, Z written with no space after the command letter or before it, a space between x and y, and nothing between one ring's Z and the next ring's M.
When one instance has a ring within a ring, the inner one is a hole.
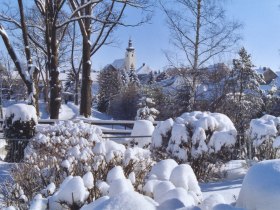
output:
M229 17L239 20L244 27L241 31L244 46L252 55L253 63L280 71L280 0L225 0ZM28 1L29 2L29 1ZM1 3L0 3L1 4ZM135 13L127 18L134 20ZM163 13L156 9L149 24L137 28L118 28L114 33L118 40L113 46L103 47L92 57L93 68L100 70L115 59L123 58L129 37L136 48L137 66L146 63L159 70L168 65L163 51L174 51L169 44L169 31ZM3 49L2 40L0 47ZM231 63L234 54L224 56L222 61ZM213 63L219 60L213 61Z

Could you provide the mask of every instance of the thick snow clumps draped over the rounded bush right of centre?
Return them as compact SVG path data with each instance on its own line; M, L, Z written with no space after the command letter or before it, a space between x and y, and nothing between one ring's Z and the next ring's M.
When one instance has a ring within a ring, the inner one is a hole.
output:
M175 122L168 119L159 123L152 136L152 146L166 147L172 156L188 161L189 156L198 158L204 153L218 153L223 147L232 149L236 135L233 123L224 114L187 112Z

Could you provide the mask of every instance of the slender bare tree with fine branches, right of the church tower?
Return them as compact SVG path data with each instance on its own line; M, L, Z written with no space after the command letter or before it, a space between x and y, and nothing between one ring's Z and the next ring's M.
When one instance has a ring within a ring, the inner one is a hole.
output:
M180 65L190 69L185 79L190 80L192 106L200 77L198 70L210 59L232 49L240 40L241 25L227 21L225 10L216 0L163 0L160 4L167 17L171 43L184 56Z

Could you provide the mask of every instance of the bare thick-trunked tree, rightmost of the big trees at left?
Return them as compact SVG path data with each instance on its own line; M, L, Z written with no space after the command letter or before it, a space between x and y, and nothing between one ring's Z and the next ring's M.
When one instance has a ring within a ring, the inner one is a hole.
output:
M148 0L68 0L68 2L74 20L78 21L83 40L80 114L89 117L92 102L91 57L108 43L113 29L120 25L131 25L123 22L124 12L128 7L146 10L149 5ZM132 25L140 25L146 21L146 18L141 19Z

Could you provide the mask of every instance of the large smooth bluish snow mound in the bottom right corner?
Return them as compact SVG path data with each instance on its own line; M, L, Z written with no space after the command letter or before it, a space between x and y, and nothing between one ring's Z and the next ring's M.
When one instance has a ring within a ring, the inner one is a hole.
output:
M280 159L262 161L246 174L236 206L247 210L275 210L280 206Z

